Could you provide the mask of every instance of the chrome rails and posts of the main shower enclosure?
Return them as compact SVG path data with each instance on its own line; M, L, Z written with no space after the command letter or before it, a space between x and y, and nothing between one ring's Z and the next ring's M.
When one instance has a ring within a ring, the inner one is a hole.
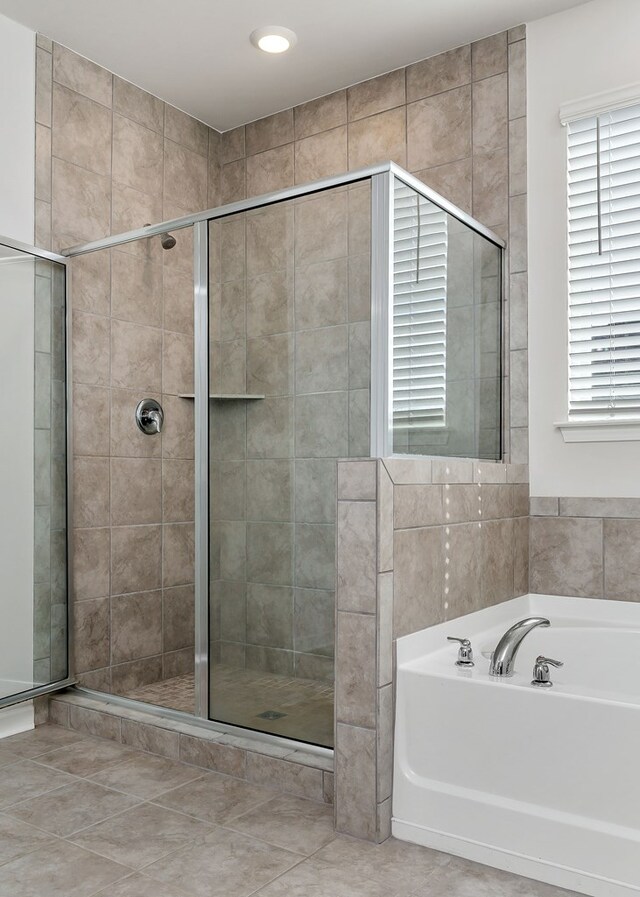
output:
M163 221L147 227L137 228L115 236L105 237L63 250L66 259L111 249L115 246L131 243L136 240L176 231L182 228L194 228L194 298L195 298L195 436L196 436L196 714L198 725L205 725L214 731L221 728L230 730L233 727L215 723L208 719L209 690L209 346L208 346L208 222L225 218L241 212L259 209L264 206L286 202L320 193L336 187L343 187L358 181L371 181L372 220L371 220L371 265L372 265L372 347L371 352L371 457L388 457L392 454L392 406L390 389L392 387L392 354L393 328L391 314L393 311L390 297L393 283L393 185L397 178L407 186L416 190L421 196L448 212L454 218L466 224L471 230L482 235L490 242L504 250L504 241L489 228L484 227L466 212L458 209L453 203L427 187L417 178L410 175L394 162L372 165L358 171L347 172L333 177L323 178L312 183L289 187L262 196L252 197L240 202L229 203L193 215ZM503 251L504 257L504 251ZM51 255L51 254L49 254ZM58 257L55 258L58 260ZM503 259L504 261L504 259ZM503 283L504 289L504 283ZM503 303L504 307L504 303ZM504 369L504 368L503 368ZM504 402L503 402L504 406ZM102 697L100 692L89 692L95 697ZM106 698L105 698L106 699ZM108 695L111 703L123 707L140 706L140 702ZM151 706L151 705L146 705ZM194 719L193 715L181 714L166 707L154 705L154 713L165 719ZM252 730L237 728L239 734L250 737L259 736L259 740L277 739L277 736L256 733ZM286 740L288 744L296 742ZM324 751L327 755L333 752L327 748L316 748L303 742L299 750L311 750L315 753Z

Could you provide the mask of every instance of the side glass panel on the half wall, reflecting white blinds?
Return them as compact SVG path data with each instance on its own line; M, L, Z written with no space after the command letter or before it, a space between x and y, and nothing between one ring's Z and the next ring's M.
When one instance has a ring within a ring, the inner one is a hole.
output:
M395 179L395 454L500 459L501 264L496 243Z

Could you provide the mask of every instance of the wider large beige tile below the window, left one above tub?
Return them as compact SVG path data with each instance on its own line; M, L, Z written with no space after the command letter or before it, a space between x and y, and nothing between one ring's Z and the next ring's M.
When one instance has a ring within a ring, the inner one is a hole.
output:
M603 597L602 520L532 517L531 591Z

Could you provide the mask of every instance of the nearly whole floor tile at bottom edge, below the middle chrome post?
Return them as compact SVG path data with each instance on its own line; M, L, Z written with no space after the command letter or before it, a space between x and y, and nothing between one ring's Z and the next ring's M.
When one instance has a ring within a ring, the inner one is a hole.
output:
M147 866L145 874L184 888L193 897L248 897L299 859L287 850L217 828L202 845Z

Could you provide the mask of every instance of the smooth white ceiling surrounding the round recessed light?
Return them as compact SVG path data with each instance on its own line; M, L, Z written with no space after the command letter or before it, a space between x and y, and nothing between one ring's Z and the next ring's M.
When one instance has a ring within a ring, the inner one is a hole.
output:
M587 0L0 0L0 13L220 131ZM249 34L284 25L282 56Z

